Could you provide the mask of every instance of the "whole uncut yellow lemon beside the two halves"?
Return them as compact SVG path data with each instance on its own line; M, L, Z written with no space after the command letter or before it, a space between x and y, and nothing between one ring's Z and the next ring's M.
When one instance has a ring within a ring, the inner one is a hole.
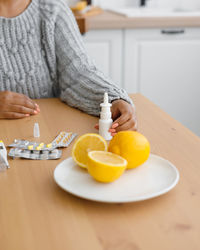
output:
M147 138L136 131L118 132L110 141L108 151L127 160L127 168L136 168L149 157L150 144Z

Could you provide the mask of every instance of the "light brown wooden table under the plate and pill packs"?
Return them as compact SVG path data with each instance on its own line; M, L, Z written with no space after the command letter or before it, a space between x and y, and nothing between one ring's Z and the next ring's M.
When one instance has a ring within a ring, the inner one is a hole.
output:
M9 160L0 173L1 250L198 250L200 249L200 139L143 96L133 95L139 131L158 154L180 171L178 185L161 197L130 204L103 204L76 198L53 180L58 161ZM41 141L62 130L95 132L97 118L57 99L38 100L41 114L0 120L0 139Z

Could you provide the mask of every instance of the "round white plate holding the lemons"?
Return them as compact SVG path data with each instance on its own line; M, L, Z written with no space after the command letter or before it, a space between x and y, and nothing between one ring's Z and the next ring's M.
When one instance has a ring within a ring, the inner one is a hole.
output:
M151 154L136 169L126 170L115 182L96 182L70 157L54 170L56 183L67 192L93 201L124 203L147 200L170 191L179 180L179 172L169 161Z

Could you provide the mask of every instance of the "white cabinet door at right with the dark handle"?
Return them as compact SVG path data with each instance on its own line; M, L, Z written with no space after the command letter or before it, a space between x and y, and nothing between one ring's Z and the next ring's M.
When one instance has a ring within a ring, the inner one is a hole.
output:
M127 31L126 46L126 89L200 136L200 29Z

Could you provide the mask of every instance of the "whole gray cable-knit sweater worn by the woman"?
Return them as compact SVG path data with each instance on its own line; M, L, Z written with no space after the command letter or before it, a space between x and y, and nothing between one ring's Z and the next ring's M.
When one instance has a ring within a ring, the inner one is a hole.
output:
M68 105L99 115L110 101L127 93L89 59L76 21L65 0L32 0L14 18L0 17L0 91L30 98L60 97Z

